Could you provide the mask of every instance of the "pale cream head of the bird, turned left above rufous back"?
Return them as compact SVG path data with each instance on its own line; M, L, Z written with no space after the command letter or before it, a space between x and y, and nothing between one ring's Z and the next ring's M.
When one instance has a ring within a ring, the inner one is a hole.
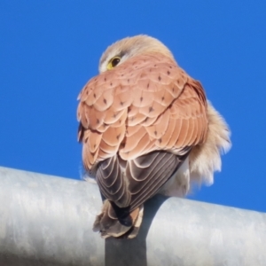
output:
M124 38L109 46L99 61L99 72L106 72L113 58L119 59L119 63L115 64L118 66L134 56L151 52L159 52L174 59L171 51L159 40L148 35L137 35Z

